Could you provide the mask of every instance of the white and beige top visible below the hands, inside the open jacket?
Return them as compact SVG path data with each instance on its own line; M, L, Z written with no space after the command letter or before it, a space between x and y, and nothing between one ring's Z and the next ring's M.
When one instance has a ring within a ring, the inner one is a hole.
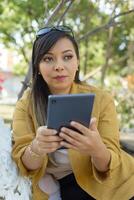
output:
M72 173L68 150L59 149L48 155L49 161L44 177L39 181L40 189L49 194L49 200L61 200L58 179Z

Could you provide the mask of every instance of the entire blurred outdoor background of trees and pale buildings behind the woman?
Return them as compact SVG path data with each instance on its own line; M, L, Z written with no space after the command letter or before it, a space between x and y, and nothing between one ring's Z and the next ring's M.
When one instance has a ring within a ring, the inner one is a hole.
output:
M80 47L81 80L112 93L121 130L134 133L133 0L0 0L0 16L0 116L5 122L12 121L36 31L45 24L65 24Z

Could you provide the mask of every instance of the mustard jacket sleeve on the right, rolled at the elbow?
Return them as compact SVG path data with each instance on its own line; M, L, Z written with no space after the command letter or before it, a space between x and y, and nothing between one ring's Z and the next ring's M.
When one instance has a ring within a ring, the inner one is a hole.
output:
M100 113L98 118L98 131L111 154L109 170L99 173L93 166L93 174L98 181L112 178L112 171L121 164L121 150L119 143L119 124L114 100L107 92L103 92L100 98Z

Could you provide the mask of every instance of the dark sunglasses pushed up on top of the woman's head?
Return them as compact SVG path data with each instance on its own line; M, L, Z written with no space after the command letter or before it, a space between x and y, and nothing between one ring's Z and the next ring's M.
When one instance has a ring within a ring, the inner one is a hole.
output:
M65 32L69 35L71 35L72 37L74 37L73 31L70 27L68 26L52 26L52 27L44 27L42 29L40 29L37 33L36 33L36 37L40 37L43 36L53 30L57 30L57 31L61 31L61 32Z

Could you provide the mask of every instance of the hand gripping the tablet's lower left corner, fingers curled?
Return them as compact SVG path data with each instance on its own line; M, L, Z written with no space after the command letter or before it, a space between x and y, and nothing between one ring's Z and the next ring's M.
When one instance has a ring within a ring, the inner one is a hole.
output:
M56 151L61 147L60 142L63 140L56 134L56 130L48 129L46 126L40 126L32 142L32 151L42 156Z

